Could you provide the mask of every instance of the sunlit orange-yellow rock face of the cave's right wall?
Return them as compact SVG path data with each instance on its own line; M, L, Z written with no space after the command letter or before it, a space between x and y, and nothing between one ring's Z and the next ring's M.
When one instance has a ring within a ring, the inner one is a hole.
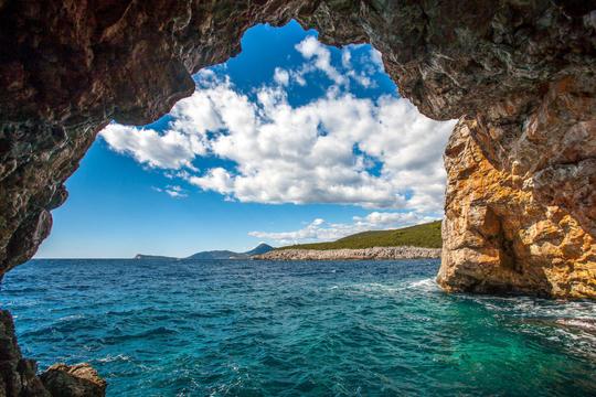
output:
M447 291L596 298L595 237L568 210L536 198L532 172L519 174L515 162L498 170L479 144L489 135L462 118L447 146L437 281Z

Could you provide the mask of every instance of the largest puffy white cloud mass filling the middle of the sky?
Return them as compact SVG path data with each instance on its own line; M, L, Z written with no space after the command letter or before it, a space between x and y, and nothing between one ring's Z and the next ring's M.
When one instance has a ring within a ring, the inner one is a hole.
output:
M338 78L330 51L315 37L296 47L307 62L299 71L316 67L334 83L361 74L351 68L356 60L350 49L342 51L344 74ZM304 78L277 67L270 85L244 94L227 76L201 72L196 90L174 106L163 131L113 124L100 136L115 151L227 200L351 204L440 216L441 153L455 120L430 120L395 96L358 98L337 84L322 97L294 106L288 93L300 84L297 76ZM199 158L223 164L199 170Z

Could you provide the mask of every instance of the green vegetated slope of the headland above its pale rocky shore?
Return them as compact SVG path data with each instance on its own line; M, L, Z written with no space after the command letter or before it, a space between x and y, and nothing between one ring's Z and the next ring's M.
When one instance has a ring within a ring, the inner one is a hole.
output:
M338 249L398 246L440 248L440 221L401 229L358 233L331 243L299 244L278 249Z

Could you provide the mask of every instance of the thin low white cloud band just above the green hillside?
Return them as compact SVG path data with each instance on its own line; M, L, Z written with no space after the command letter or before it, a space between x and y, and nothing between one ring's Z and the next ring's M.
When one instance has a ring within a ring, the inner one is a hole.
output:
M263 238L280 245L330 242L355 233L412 226L436 217L416 213L372 212L366 216L354 216L352 223L328 223L322 218L291 232L251 232L249 236Z

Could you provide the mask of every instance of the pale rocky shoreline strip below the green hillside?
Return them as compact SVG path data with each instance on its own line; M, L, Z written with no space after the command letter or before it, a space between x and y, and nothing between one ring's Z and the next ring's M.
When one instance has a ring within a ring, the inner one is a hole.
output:
M360 249L276 249L255 255L259 260L389 260L440 258L440 248L422 247L373 247Z

